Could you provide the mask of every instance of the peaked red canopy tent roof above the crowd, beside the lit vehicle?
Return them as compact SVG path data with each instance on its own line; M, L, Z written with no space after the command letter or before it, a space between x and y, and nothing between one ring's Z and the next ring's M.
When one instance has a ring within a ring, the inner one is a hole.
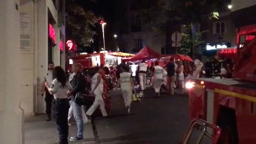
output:
M137 60L159 59L161 55L148 46L143 47L135 56L130 59L123 59L124 62L135 62Z

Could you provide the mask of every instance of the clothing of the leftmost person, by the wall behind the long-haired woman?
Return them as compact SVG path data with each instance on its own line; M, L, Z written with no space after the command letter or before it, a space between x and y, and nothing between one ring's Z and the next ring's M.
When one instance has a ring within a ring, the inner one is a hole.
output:
M53 71L49 70L46 73L46 76L44 76L45 81L47 81L48 87L51 86L52 81L53 81ZM45 88L46 95L45 95L45 102L46 102L46 114L48 116L47 121L51 119L52 115L52 101L53 101L53 95L50 94L47 88Z

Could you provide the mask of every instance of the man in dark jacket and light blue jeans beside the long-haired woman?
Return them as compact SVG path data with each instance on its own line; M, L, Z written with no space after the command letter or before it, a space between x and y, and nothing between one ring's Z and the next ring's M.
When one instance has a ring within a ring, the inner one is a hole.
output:
M68 95L72 95L72 107L73 107L73 116L76 120L76 127L77 127L77 134L75 137L71 137L71 141L78 141L84 139L83 132L84 132L84 122L82 119L82 109L79 104L75 103L75 95L80 93L85 93L85 77L82 75L81 71L81 64L80 63L74 63L72 65L72 71L75 73L73 76L73 79L71 80L71 86L73 87L72 91L68 92Z

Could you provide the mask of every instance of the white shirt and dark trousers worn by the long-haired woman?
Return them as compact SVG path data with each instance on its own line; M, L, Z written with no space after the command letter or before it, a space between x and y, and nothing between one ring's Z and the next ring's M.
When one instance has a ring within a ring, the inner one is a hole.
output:
M55 99L56 124L57 130L59 131L60 143L68 143L68 90L72 90L69 82L63 86L57 79L54 79L50 86L50 91L55 92L53 97Z

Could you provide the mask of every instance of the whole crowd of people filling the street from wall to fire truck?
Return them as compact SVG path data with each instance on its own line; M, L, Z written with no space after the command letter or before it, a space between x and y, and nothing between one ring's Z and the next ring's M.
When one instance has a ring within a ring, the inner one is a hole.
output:
M161 65L160 65L161 64ZM107 117L110 110L110 96L108 89L120 88L124 99L124 107L130 113L132 94L136 94L135 85L139 85L138 97L144 98L146 87L152 87L156 97L161 97L161 91L168 91L174 95L174 89L178 94L184 94L186 77L199 78L205 76L232 77L233 63L231 59L219 60L214 57L212 61L207 59L202 63L200 57L194 62L175 60L169 62L155 61L151 65L142 60L137 66L135 76L131 66L121 63L107 68L104 65L93 69L82 69L80 63L72 65L72 72L66 72L60 66L49 63L49 71L44 78L42 96L45 92L47 121L52 119L52 101L56 115L57 130L59 131L59 143L68 143L68 126L71 117L76 121L77 133L71 137L71 141L84 139L84 124L91 122L91 116L95 111L101 112L101 116ZM81 96L82 95L82 96ZM82 100L83 98L86 100Z

